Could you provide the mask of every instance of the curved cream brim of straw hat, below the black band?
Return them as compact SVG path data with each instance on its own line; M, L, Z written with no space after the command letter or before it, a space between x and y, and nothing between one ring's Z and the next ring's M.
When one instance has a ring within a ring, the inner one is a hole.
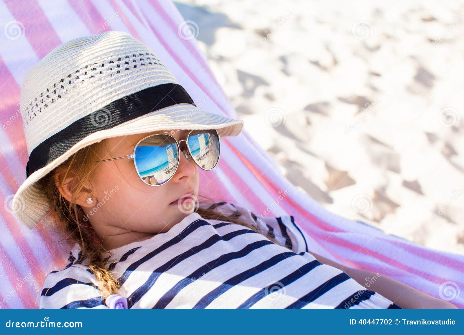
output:
M63 155L26 178L13 197L13 214L16 214L27 227L34 228L50 210L49 200L37 183L39 179L62 164L75 152L100 142L102 139L175 129L216 129L221 137L237 136L241 132L243 124L243 120L230 119L220 114L205 112L191 104L182 103L142 115L110 129L97 131L77 142Z

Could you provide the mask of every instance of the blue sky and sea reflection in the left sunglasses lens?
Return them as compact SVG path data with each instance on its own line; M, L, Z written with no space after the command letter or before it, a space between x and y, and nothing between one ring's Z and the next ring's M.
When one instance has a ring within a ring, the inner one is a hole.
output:
M172 147L174 158L178 157L175 144L165 146L138 146L135 149L135 163L139 172L153 170L158 171L164 166L168 165L168 153L166 149Z

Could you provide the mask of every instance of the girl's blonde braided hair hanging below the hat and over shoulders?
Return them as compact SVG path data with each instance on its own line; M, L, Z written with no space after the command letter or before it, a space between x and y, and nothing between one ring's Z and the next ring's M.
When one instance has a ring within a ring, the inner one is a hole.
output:
M88 188L89 185L91 187L90 175L98 166L94 162L101 159L103 143L103 141L94 143L74 153L55 170L42 177L39 183L44 194L50 200L50 207L53 210L57 228L65 236L65 241L71 244L79 244L82 250L81 259L87 260L87 266L97 277L98 287L102 292L102 297L105 298L110 294L117 294L121 287L119 280L113 276L112 271L108 268L109 258L105 257L103 259L103 253L107 253L107 255L114 254L103 247L103 240L95 233L82 207L76 204L76 198L83 188ZM64 172L64 176L63 173L56 173L58 171ZM68 176L75 177L73 178L75 185L72 185L71 201L64 198L55 183L58 182L61 185ZM200 198L206 199L206 201L201 201L202 203L211 205L215 203L213 199L207 196L199 196ZM255 225L241 219L241 213L237 212L237 210L231 210L230 213L228 210L225 210L224 213L218 213L214 208L215 206L211 208L209 206L203 208L197 206L195 212L206 220L228 221L245 226L277 243L275 239L266 236Z

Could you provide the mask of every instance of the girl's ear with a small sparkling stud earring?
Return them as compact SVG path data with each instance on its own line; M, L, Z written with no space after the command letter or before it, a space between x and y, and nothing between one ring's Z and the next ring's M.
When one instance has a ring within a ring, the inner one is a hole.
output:
M64 179L65 177L66 179ZM70 174L69 172L66 175L66 169L58 167L54 171L54 179L58 191L61 193L64 199L71 202L72 196L77 191L77 187L79 185L77 177ZM87 198L89 197L91 197L93 200L93 202L90 205L87 204ZM81 207L90 208L95 206L94 204L97 202L97 199L95 198L95 196L92 195L88 188L83 187L80 190L80 192L76 195L75 202L77 205L80 205Z

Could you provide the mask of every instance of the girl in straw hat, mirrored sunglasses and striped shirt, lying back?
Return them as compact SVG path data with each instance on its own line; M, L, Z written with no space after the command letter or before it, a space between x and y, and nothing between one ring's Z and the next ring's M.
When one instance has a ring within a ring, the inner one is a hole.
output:
M30 227L52 209L74 243L40 308L454 307L385 276L363 287L375 274L311 254L293 216L200 196L198 167L217 165L243 121L198 109L129 34L51 51L21 114L29 161L13 204Z

